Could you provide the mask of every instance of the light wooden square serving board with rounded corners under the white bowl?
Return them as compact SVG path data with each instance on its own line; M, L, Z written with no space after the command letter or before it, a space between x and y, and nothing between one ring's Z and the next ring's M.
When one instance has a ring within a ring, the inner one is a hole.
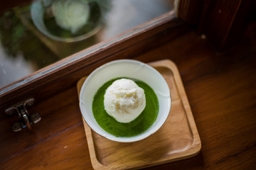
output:
M160 60L149 65L158 70L169 85L169 117L153 135L132 143L107 140L91 130L82 118L94 169L141 169L193 157L200 152L201 140L176 64ZM85 79L78 81L78 94Z

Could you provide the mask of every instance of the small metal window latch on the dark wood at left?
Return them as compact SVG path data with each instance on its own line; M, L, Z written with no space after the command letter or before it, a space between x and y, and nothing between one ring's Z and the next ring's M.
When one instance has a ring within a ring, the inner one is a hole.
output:
M14 115L18 114L18 122L14 123L11 126L11 129L14 132L21 131L24 128L28 128L28 130L32 130L31 125L38 123L41 120L41 115L39 113L28 113L27 108L32 106L35 102L34 98L29 98L26 101L22 101L20 103L11 106L5 110L6 115Z

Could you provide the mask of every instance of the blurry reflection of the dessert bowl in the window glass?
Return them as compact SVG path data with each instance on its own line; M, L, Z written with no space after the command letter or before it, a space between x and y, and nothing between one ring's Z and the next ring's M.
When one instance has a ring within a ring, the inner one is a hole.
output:
M100 0L34 0L31 18L48 38L75 42L90 38L102 28L105 15L102 4L107 3Z

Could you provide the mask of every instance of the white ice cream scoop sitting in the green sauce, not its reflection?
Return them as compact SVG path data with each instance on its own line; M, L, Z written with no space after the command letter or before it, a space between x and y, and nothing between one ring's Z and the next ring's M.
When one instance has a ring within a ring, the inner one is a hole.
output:
M130 79L118 79L110 85L104 96L105 111L120 123L129 123L146 106L144 90Z

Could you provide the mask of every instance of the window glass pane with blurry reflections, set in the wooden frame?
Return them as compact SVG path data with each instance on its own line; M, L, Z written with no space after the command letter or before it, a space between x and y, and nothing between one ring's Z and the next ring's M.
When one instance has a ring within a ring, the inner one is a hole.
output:
M174 8L174 0L41 0L11 8L0 15L0 89Z

